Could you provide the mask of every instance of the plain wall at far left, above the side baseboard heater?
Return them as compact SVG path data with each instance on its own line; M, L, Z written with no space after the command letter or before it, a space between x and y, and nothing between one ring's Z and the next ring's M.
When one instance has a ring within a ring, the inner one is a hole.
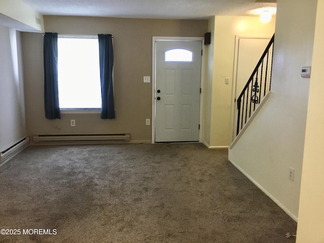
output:
M20 33L0 25L0 152L26 136Z

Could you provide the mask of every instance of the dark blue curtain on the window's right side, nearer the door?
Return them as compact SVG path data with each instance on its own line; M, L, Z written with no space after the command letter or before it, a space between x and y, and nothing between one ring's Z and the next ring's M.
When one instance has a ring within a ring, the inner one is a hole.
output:
M99 61L101 82L101 118L114 119L115 105L113 99L112 66L113 50L112 35L98 34L99 39Z

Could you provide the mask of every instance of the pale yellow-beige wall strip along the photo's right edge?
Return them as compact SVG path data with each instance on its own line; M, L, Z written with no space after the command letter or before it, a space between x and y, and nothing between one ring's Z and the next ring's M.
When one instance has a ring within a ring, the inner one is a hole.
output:
M324 1L317 2L312 72L300 191L297 243L324 242Z

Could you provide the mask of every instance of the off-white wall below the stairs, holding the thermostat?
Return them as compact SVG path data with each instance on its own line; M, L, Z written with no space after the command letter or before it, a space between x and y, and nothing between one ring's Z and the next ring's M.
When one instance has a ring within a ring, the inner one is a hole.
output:
M296 221L309 89L300 70L311 65L316 2L278 0L272 95L229 150L229 160Z

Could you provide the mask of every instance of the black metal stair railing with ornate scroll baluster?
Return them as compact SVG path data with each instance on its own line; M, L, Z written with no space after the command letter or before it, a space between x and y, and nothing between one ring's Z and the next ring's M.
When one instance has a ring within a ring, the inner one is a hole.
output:
M263 97L270 91L273 43L274 34L252 72L248 83L237 98L238 112L236 135L238 135L240 130L247 123Z

